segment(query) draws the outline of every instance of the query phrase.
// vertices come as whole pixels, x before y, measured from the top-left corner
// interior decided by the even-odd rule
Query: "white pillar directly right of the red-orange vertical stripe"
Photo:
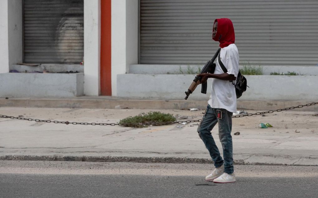
[[[138,0],[112,0],[112,95],[117,96],[117,75],[138,63]]]

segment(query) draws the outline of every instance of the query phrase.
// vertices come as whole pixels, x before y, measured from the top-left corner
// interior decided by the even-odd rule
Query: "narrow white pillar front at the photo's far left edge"
[[[0,1],[0,73],[9,72],[8,0]]]

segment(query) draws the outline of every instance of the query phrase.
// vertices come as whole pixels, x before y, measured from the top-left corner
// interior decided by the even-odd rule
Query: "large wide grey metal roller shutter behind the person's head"
[[[230,18],[240,64],[318,64],[318,1],[140,0],[141,64],[204,64],[218,48],[215,18]]]

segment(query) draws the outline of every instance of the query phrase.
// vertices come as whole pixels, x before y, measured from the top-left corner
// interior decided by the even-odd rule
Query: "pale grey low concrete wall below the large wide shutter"
[[[119,74],[117,76],[118,97],[139,97],[159,99],[183,99],[196,75],[183,74]],[[318,76],[245,75],[246,92],[239,100],[316,100]],[[207,94],[201,93],[201,85],[189,99],[208,100],[211,80],[208,80]]]

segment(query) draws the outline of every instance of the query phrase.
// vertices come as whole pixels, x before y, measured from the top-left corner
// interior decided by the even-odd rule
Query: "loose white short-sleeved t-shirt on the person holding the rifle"
[[[230,44],[225,48],[221,48],[220,58],[227,69],[228,74],[235,77],[239,73],[239,51],[235,44]],[[216,58],[215,74],[224,73]],[[236,93],[235,87],[229,80],[212,79],[211,96],[208,101],[212,108],[226,109],[229,112],[236,112]],[[235,81],[234,81],[235,83]]]

